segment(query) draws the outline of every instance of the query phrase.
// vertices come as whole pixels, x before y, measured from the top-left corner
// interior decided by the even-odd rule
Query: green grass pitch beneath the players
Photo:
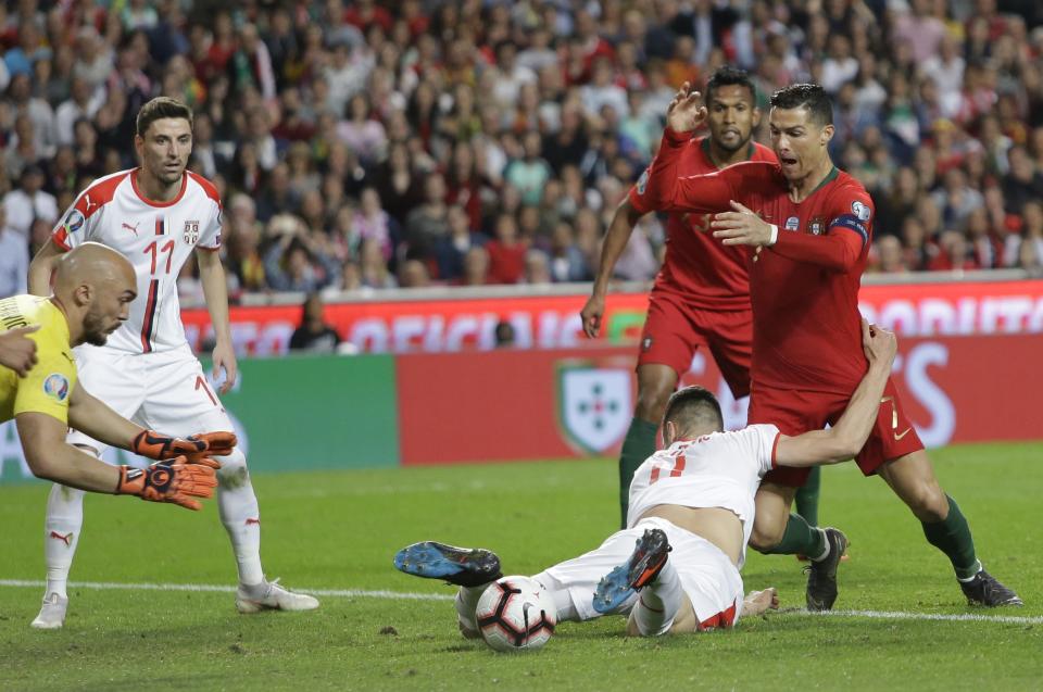
[[[639,640],[620,618],[565,624],[540,652],[501,655],[456,632],[448,600],[324,597],[312,614],[240,616],[227,592],[74,587],[63,630],[28,627],[38,587],[0,586],[0,690],[1040,690],[1043,689],[1043,444],[933,453],[987,568],[1023,608],[969,608],[947,561],[878,479],[827,468],[821,518],[852,540],[843,611],[810,616],[793,558],[751,553],[746,589],[776,586],[783,611],[732,631]],[[391,567],[406,543],[497,550],[533,574],[596,545],[616,524],[615,462],[447,466],[254,478],[269,577],[290,587],[419,592]],[[47,488],[0,488],[0,579],[42,578]],[[217,509],[200,514],[89,496],[78,582],[233,586]],[[1023,620],[929,620],[928,614]]]

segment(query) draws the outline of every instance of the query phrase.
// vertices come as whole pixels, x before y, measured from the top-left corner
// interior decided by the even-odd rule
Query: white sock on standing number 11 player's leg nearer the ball
[[[261,511],[253,493],[247,457],[239,448],[228,456],[217,457],[217,509],[231,539],[239,566],[239,583],[253,586],[264,581],[261,567]]]

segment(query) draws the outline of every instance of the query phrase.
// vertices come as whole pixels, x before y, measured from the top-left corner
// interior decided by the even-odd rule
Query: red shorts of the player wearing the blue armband
[[[771,423],[778,426],[782,435],[791,437],[808,430],[821,430],[827,423],[835,425],[850,399],[843,394],[772,389],[758,385],[750,398],[749,423]],[[905,417],[894,381],[888,378],[877,413],[877,423],[865,446],[855,456],[855,463],[863,474],[871,476],[884,462],[922,449],[923,443],[920,442],[916,429]],[[780,486],[799,488],[807,480],[809,473],[810,468],[779,467],[768,471],[764,479]]]

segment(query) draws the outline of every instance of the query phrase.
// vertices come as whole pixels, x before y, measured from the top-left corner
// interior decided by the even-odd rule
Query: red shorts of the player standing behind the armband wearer
[[[668,365],[677,377],[692,366],[699,347],[706,347],[736,399],[750,393],[753,313],[750,310],[707,310],[683,299],[652,291],[641,332],[638,367]]]

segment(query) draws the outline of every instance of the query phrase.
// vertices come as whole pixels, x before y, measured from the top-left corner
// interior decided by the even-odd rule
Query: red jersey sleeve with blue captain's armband
[[[824,235],[780,232],[771,249],[790,260],[850,272],[869,243],[872,200],[864,189],[844,186],[825,211],[830,221]]]

